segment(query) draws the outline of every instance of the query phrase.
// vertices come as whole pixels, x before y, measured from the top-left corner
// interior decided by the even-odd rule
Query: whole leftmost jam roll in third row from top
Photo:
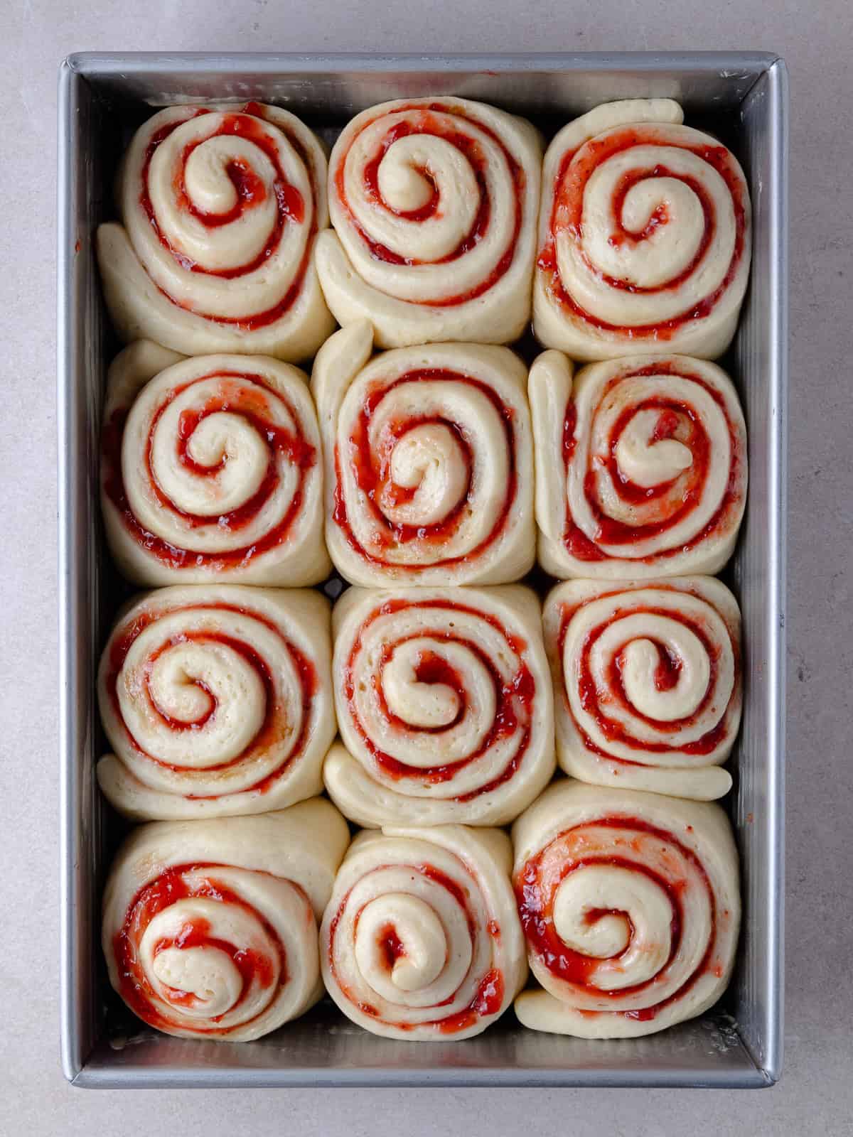
[[[133,600],[101,656],[114,754],[101,789],[134,819],[266,813],[322,789],[334,737],[329,601],[190,586]]]

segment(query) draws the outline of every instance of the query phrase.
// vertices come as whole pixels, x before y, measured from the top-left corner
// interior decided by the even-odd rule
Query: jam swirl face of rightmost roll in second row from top
[[[746,493],[743,416],[726,376],[724,385],[713,379],[670,357],[618,367],[594,398],[581,397],[580,414],[577,392],[570,396],[563,543],[574,561],[660,563],[665,571],[672,557],[702,555],[737,532]]]

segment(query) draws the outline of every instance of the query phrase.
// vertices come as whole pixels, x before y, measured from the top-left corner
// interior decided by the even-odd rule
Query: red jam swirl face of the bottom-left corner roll
[[[288,982],[287,952],[270,921],[239,895],[247,877],[267,874],[176,865],[133,898],[111,946],[118,994],[149,1026],[227,1037],[268,1013]],[[200,971],[206,990],[180,986],[181,957],[187,970],[209,960]]]

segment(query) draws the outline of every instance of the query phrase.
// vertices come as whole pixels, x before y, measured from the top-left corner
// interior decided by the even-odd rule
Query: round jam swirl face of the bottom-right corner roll
[[[702,860],[641,818],[590,818],[560,832],[514,883],[537,977],[581,1014],[648,1022],[719,965]]]

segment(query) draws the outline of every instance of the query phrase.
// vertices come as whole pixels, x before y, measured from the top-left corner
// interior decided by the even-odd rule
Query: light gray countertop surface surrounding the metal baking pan
[[[853,1134],[848,0],[6,0],[0,55],[0,1131]],[[77,50],[764,49],[792,83],[787,1029],[762,1092],[75,1090],[59,1069],[56,73]]]

